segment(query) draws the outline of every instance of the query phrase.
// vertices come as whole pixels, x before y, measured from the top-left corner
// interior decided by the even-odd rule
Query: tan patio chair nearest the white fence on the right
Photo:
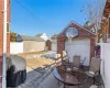
[[[100,74],[100,63],[101,59],[100,58],[91,58],[91,63],[90,63],[90,67],[88,72],[85,72],[86,75],[88,76],[88,78],[92,78],[94,80],[94,85],[95,85],[95,77],[98,76]],[[87,78],[87,79],[88,79]]]

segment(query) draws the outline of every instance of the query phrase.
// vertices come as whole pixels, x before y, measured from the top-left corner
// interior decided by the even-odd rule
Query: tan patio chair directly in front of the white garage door
[[[79,55],[75,55],[73,57],[73,70],[79,70],[79,65],[80,65],[80,56]]]

